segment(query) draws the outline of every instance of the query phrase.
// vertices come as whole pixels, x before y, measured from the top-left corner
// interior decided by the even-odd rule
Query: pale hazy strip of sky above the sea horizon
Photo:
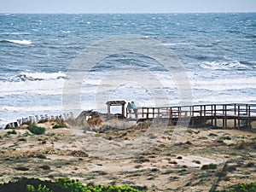
[[[256,0],[0,0],[0,13],[256,12]]]

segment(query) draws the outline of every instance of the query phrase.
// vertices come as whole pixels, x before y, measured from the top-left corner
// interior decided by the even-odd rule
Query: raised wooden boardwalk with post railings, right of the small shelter
[[[177,119],[190,118],[192,127],[252,128],[256,120],[256,104],[210,104],[160,108],[137,108],[137,115],[126,108],[126,120],[168,119],[174,125]]]

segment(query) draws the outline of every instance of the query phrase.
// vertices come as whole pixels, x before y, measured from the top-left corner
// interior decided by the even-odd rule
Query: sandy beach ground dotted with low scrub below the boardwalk
[[[26,126],[16,129],[16,134],[0,131],[0,183],[20,177],[67,177],[84,184],[114,183],[147,191],[209,191],[256,180],[255,127],[252,131],[188,128],[182,140],[173,144],[175,127],[167,126],[160,137],[152,137],[154,144],[141,154],[109,158],[81,141],[129,142],[148,127],[81,128],[78,135],[73,127],[53,129],[53,125],[53,121],[39,124],[46,128],[43,135],[32,134]]]

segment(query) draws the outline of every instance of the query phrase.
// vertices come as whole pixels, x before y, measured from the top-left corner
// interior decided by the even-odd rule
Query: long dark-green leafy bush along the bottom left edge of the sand
[[[96,185],[84,186],[79,180],[59,178],[54,182],[38,178],[21,178],[17,182],[0,184],[0,191],[4,192],[141,192],[130,186]]]

